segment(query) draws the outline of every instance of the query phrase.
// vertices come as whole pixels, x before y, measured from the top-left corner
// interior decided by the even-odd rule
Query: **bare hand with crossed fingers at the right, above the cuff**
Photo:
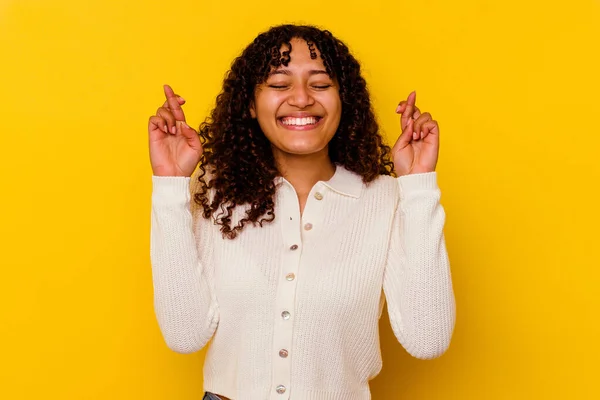
[[[440,150],[440,129],[431,114],[415,106],[416,92],[408,95],[396,109],[402,114],[402,134],[392,148],[394,170],[398,176],[435,171]]]

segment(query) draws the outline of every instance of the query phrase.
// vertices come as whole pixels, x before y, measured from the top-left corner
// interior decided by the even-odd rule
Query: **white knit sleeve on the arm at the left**
[[[167,346],[192,353],[208,343],[219,322],[208,261],[210,221],[193,221],[190,178],[153,176],[152,185],[154,310]]]

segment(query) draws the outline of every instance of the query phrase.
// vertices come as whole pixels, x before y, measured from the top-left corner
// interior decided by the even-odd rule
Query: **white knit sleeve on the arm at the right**
[[[445,213],[435,172],[397,181],[383,288],[396,338],[412,356],[430,359],[448,349],[456,320]]]

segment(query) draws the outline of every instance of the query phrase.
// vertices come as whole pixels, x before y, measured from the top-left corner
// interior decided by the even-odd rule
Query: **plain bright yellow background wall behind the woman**
[[[456,330],[416,360],[385,314],[374,399],[597,395],[598,0],[0,4],[0,398],[201,398],[152,308],[147,119],[169,83],[198,125],[283,22],[350,46],[390,142],[414,89],[441,127]]]

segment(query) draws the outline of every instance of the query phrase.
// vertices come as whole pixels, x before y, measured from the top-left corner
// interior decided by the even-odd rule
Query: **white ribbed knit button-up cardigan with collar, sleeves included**
[[[233,400],[370,399],[385,300],[410,354],[448,348],[456,311],[435,172],[365,185],[338,166],[302,215],[293,186],[277,178],[275,220],[234,240],[200,215],[195,180],[152,182],[158,324],[179,353],[212,339],[205,390]],[[243,214],[238,207],[232,222]]]

